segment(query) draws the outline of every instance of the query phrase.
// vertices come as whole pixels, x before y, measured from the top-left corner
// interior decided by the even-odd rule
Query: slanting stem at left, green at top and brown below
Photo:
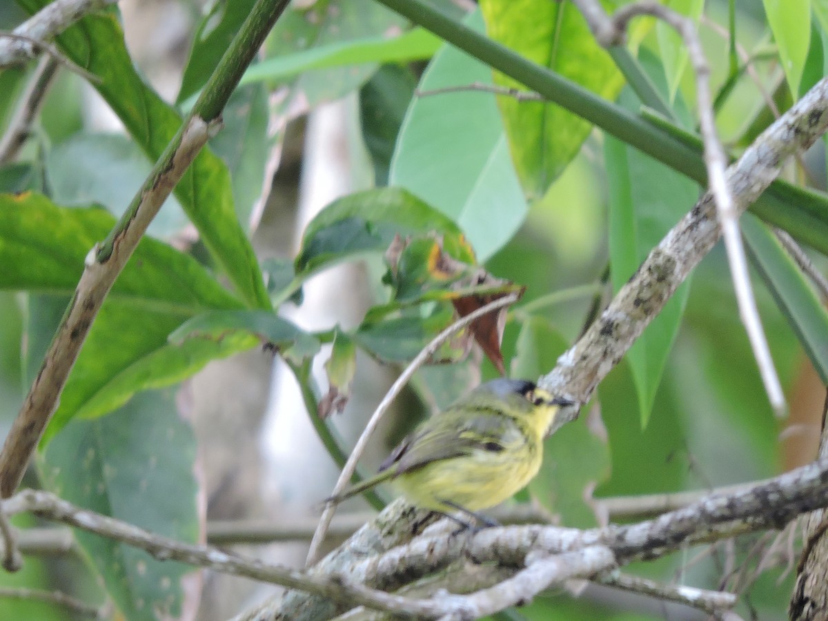
[[[20,484],[31,453],[55,412],[66,378],[115,278],[201,147],[219,130],[221,110],[287,4],[288,0],[258,0],[190,115],[122,219],[108,237],[89,252],[75,296],[0,452],[0,497],[8,498]]]

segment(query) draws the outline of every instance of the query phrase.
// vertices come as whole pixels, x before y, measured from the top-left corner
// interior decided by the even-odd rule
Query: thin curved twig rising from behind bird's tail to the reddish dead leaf
[[[426,347],[424,347],[421,352],[416,355],[415,359],[413,359],[411,363],[409,363],[408,366],[402,371],[402,373],[400,373],[400,377],[398,377],[397,381],[394,382],[391,388],[388,389],[385,397],[383,397],[383,401],[379,403],[377,409],[371,415],[368,424],[359,436],[359,440],[357,440],[356,445],[354,445],[354,450],[351,451],[348,461],[345,462],[342,472],[339,474],[339,479],[334,486],[334,490],[330,494],[331,496],[336,496],[348,485],[351,477],[354,475],[354,470],[356,470],[357,461],[359,461],[363,451],[368,446],[368,440],[370,440],[373,432],[376,430],[383,414],[388,410],[388,407],[391,406],[393,400],[397,398],[397,395],[400,391],[402,391],[402,388],[405,388],[408,380],[412,378],[412,375],[416,372],[416,370],[420,368],[426,360],[431,358],[436,350],[440,348],[440,345],[450,339],[451,336],[455,335],[458,330],[461,330],[475,319],[478,319],[483,315],[487,315],[493,310],[498,310],[499,308],[514,304],[519,298],[520,296],[516,293],[511,293],[508,296],[503,296],[493,302],[489,302],[486,306],[481,306],[479,309],[474,310],[474,312],[469,313],[469,315],[460,317],[459,320],[456,320],[452,325],[440,332],[439,335],[436,335],[436,337],[431,340],[431,343],[427,344]],[[328,527],[330,526],[330,521],[334,517],[335,510],[335,503],[325,503],[325,509],[320,517],[319,527],[316,528],[314,537],[310,541],[310,549],[308,550],[306,566],[311,566],[315,563],[316,557],[319,553],[319,548],[325,540],[325,532],[327,532]]]

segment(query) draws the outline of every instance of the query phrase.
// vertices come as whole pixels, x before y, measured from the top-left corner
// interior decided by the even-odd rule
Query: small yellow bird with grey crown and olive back
[[[379,467],[379,474],[328,498],[341,502],[388,481],[417,507],[475,511],[522,489],[541,468],[543,439],[561,407],[574,405],[526,380],[484,383],[421,423]]]

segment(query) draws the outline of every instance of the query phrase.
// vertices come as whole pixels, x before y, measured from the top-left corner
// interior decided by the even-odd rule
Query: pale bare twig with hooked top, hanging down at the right
[[[739,231],[739,210],[734,204],[733,194],[727,181],[725,169],[727,156],[721,146],[715,127],[713,114],[713,97],[710,94],[710,65],[701,47],[696,24],[681,13],[664,7],[657,2],[636,2],[619,8],[612,17],[604,13],[596,0],[574,0],[590,23],[596,39],[603,46],[617,45],[623,39],[628,23],[633,17],[650,15],[666,22],[681,36],[687,48],[694,70],[696,70],[696,99],[700,120],[701,137],[704,140],[704,160],[707,168],[708,184],[716,205],[724,248],[727,251],[730,273],[733,279],[736,300],[739,303],[739,315],[748,333],[753,348],[753,356],[758,364],[759,373],[768,393],[768,400],[778,416],[786,411],[785,395],[782,383],[773,366],[768,339],[766,339],[753,287],[750,284],[748,260],[745,257],[742,235]]]

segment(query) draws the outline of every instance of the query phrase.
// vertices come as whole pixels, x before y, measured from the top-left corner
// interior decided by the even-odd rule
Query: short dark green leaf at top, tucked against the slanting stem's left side
[[[213,3],[195,31],[176,103],[189,99],[206,84],[254,4],[256,0],[219,0]]]

